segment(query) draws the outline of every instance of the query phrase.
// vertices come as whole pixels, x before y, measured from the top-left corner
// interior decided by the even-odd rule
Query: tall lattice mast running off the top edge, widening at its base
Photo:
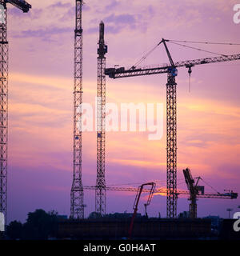
[[[82,187],[82,0],[76,0],[74,30],[74,161],[70,218],[84,218]]]

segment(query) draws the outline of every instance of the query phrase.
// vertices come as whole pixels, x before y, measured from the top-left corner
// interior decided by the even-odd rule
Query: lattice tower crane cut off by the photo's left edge
[[[11,5],[27,13],[31,6],[26,1],[0,0],[0,213],[6,218],[7,208],[7,134],[8,134],[8,41],[7,7]]]

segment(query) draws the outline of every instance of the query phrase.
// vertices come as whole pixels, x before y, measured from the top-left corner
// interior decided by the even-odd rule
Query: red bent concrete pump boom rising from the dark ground
[[[149,197],[147,199],[146,204],[144,205],[146,207],[146,206],[150,205],[151,199],[153,198],[153,194],[154,194],[156,184],[154,182],[148,182],[148,183],[144,183],[144,184],[142,184],[141,186],[138,187],[138,191],[137,191],[136,198],[135,198],[135,201],[134,201],[134,214],[131,218],[130,228],[129,228],[129,232],[128,232],[129,239],[132,236],[132,231],[133,231],[133,227],[134,227],[134,218],[136,217],[136,214],[137,214],[137,211],[138,211],[138,202],[140,200],[140,197],[141,197],[142,190],[143,190],[144,186],[151,186]]]

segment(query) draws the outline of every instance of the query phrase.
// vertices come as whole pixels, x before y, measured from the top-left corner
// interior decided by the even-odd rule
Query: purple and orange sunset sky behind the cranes
[[[98,24],[106,26],[107,66],[132,66],[162,38],[240,43],[234,4],[225,0],[86,1],[83,7],[84,102],[94,102],[97,82]],[[74,1],[30,1],[22,14],[9,6],[9,197],[8,220],[24,221],[36,208],[70,214],[73,132]],[[222,54],[239,46],[194,45]],[[169,44],[174,61],[212,54]],[[162,46],[143,65],[168,62]],[[240,191],[240,62],[196,66],[188,91],[186,69],[178,70],[178,184],[189,166],[220,192]],[[106,101],[160,102],[166,105],[166,74],[106,79]],[[165,120],[165,119],[164,119]],[[166,124],[164,123],[164,126]],[[83,134],[82,179],[96,180],[96,134]],[[106,183],[160,180],[166,185],[166,133],[149,141],[144,133],[106,135]],[[134,185],[138,186],[138,185]],[[210,188],[206,190],[214,192]],[[132,211],[135,194],[107,193],[107,212]],[[85,192],[86,216],[94,210],[94,191]],[[118,202],[118,203],[116,203]],[[143,213],[143,202],[139,208]],[[178,213],[188,210],[178,200]],[[199,199],[198,216],[226,217],[240,200]],[[166,197],[155,196],[150,216],[166,216]]]

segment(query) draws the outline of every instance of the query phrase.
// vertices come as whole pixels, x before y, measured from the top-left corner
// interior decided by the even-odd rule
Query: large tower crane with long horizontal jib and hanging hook
[[[240,54],[221,55],[214,58],[198,58],[182,62],[174,62],[170,51],[166,46],[166,40],[158,43],[163,44],[166,54],[169,58],[170,65],[137,67],[132,66],[130,69],[124,67],[107,68],[105,74],[110,78],[129,78],[150,74],[167,74],[166,83],[166,215],[167,218],[177,216],[177,83],[175,78],[178,75],[178,67],[186,67],[191,74],[193,66],[216,63],[230,62],[240,59]]]

